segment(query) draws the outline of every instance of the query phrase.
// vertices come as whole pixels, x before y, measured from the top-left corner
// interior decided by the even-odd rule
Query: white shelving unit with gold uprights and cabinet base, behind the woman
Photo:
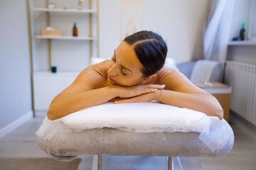
[[[55,3],[59,6],[62,6],[61,4],[67,5],[62,0],[57,0]],[[47,111],[53,98],[60,94],[63,89],[70,86],[81,72],[72,72],[70,71],[72,69],[65,67],[69,67],[69,65],[74,66],[75,63],[79,62],[80,68],[84,69],[86,64],[83,64],[79,59],[84,59],[87,63],[90,61],[94,51],[92,44],[96,45],[97,57],[99,55],[99,0],[88,0],[82,9],[75,8],[75,5],[78,5],[77,1],[70,2],[69,6],[65,9],[60,7],[50,9],[48,5],[49,0],[37,2],[36,0],[28,0],[31,88],[34,113],[35,110]],[[70,29],[70,23],[74,23],[74,21],[78,23],[79,36],[73,36],[70,31],[72,30]],[[64,35],[46,36],[40,34],[42,28],[50,26],[62,28]],[[62,42],[62,40],[65,42]],[[67,40],[70,41],[67,42]],[[95,41],[97,41],[97,44]],[[75,57],[68,55],[73,53],[73,50],[76,50]],[[65,55],[64,52],[68,54]],[[52,57],[55,58],[55,64],[52,64]],[[33,62],[34,59],[36,62]],[[34,63],[36,69],[34,68]],[[55,73],[51,72],[53,65],[60,68],[57,63],[63,64],[65,67],[62,67],[61,70],[57,69]],[[40,64],[48,64],[48,71],[42,70]]]

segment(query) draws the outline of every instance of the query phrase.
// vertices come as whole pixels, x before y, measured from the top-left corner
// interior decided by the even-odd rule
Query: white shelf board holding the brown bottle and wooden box
[[[52,39],[52,40],[97,40],[95,36],[45,36],[45,35],[36,35],[36,39]]]

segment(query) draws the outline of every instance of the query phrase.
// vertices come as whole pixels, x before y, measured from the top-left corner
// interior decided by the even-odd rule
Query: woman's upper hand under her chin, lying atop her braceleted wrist
[[[142,94],[148,94],[155,92],[157,90],[164,89],[165,85],[159,84],[146,84],[146,85],[136,85],[136,86],[118,86],[115,85],[113,88],[117,90],[117,96],[119,98],[132,98],[135,96],[140,96]]]

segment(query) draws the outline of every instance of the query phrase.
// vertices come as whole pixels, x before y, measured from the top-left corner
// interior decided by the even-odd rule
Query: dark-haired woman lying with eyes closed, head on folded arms
[[[160,35],[140,31],[114,50],[111,60],[84,69],[73,84],[53,98],[48,119],[55,120],[107,101],[156,100],[223,118],[217,99],[195,86],[181,72],[164,67],[167,46]],[[165,85],[165,86],[164,86]]]

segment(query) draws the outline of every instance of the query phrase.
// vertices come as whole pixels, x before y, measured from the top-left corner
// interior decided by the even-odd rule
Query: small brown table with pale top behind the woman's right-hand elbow
[[[224,111],[224,119],[229,122],[230,113],[230,98],[232,93],[232,87],[227,84],[222,84],[220,82],[197,82],[193,83],[200,87],[208,94],[213,95],[220,102],[221,107]]]

